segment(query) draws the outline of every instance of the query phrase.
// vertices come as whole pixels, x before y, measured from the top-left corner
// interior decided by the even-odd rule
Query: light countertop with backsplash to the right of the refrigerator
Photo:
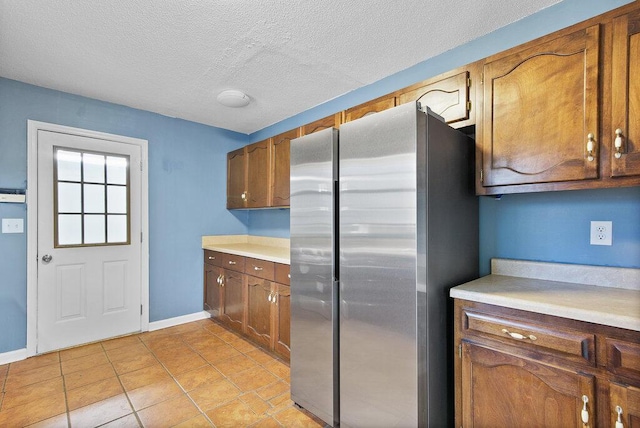
[[[494,259],[451,297],[640,331],[640,269]]]

